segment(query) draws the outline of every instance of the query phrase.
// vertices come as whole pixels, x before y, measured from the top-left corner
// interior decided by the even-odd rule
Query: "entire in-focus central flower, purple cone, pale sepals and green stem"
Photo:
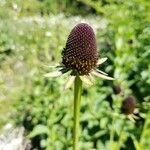
[[[79,23],[68,36],[66,46],[62,51],[62,62],[54,67],[57,70],[44,75],[45,77],[59,77],[68,72],[69,78],[64,89],[70,88],[74,83],[73,150],[79,150],[82,82],[93,85],[93,76],[114,80],[107,73],[98,69],[99,65],[106,60],[107,58],[98,59],[96,37],[92,27],[86,23]]]

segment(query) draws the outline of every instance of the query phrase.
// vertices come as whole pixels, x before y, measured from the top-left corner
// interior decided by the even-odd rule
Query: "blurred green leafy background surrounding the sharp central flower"
[[[63,90],[67,76],[43,74],[44,65],[61,62],[70,30],[83,21],[95,30],[99,56],[108,57],[100,69],[116,80],[83,88],[81,150],[149,150],[148,0],[0,0],[0,133],[12,123],[25,128],[32,149],[71,149],[73,88]],[[135,122],[120,111],[130,95]]]

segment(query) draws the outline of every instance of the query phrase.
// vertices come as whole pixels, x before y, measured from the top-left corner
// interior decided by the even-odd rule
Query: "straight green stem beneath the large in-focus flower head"
[[[79,117],[81,101],[82,81],[76,76],[74,83],[74,133],[73,133],[73,150],[78,150],[79,139]]]

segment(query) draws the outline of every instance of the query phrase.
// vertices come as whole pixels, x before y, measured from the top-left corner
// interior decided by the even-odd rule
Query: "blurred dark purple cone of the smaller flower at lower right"
[[[126,115],[133,114],[135,107],[135,98],[133,96],[129,96],[122,102],[121,111]]]

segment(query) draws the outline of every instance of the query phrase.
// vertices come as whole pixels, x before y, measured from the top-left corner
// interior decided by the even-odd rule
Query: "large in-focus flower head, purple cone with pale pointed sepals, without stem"
[[[72,85],[76,76],[89,85],[93,84],[93,75],[113,80],[105,72],[97,69],[106,60],[107,58],[98,59],[96,38],[92,27],[86,23],[79,23],[72,29],[67,39],[62,51],[61,64],[55,66],[56,71],[45,74],[45,77],[57,77],[70,72],[65,88]]]

